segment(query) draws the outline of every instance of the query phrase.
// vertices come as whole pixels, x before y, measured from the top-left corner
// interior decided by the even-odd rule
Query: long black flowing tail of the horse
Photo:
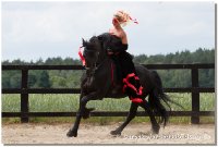
[[[166,106],[169,108],[169,111],[171,111],[171,107],[169,102],[173,102],[168,95],[164,93],[162,89],[162,82],[160,79],[160,76],[156,71],[153,71],[152,74],[155,77],[155,88],[152,90],[152,93],[148,96],[148,103],[152,108],[152,110],[159,115],[159,123],[164,123],[164,126],[166,126],[169,114],[166,109],[166,107],[162,105],[161,101],[166,103]],[[174,103],[174,102],[173,102]]]

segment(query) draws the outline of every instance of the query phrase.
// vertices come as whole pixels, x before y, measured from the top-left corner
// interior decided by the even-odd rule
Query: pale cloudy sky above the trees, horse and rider
[[[138,21],[123,27],[132,54],[215,48],[214,2],[2,2],[2,60],[78,59],[82,38],[106,33],[124,10]]]

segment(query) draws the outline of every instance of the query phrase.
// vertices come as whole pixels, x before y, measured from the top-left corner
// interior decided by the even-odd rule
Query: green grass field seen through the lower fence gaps
[[[80,95],[29,95],[31,112],[65,112],[77,111]],[[171,105],[173,111],[191,111],[191,94],[169,94],[172,100],[184,107],[185,110]],[[2,112],[20,112],[20,95],[2,95]],[[96,111],[129,111],[129,98],[94,100],[87,103],[88,108],[95,108]],[[144,111],[138,108],[140,111]],[[215,94],[201,94],[201,111],[215,110]],[[84,123],[108,124],[110,122],[122,122],[125,117],[93,117],[83,120]],[[19,118],[4,118],[3,123],[20,122]],[[31,122],[74,122],[71,118],[31,118]],[[133,122],[149,122],[148,117],[137,117]],[[190,123],[190,117],[174,117],[170,119],[171,123]],[[213,117],[202,117],[202,123],[214,123]]]

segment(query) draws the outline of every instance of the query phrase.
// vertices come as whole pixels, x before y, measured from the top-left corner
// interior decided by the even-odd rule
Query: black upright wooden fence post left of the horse
[[[28,70],[23,69],[22,70],[22,85],[21,85],[21,122],[27,123],[28,122],[28,115],[26,114],[28,112]]]

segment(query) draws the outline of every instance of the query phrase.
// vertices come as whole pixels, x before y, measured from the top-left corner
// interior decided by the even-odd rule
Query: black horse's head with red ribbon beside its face
[[[97,60],[101,50],[101,45],[98,37],[94,36],[89,41],[83,39],[83,57],[85,58],[85,68],[94,69],[96,68]]]

